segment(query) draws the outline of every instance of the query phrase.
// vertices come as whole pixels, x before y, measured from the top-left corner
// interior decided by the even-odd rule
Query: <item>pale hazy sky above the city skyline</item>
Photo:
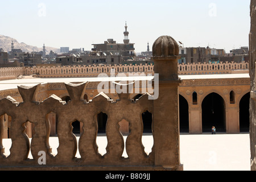
[[[0,35],[31,46],[92,49],[114,39],[123,43],[127,21],[135,51],[150,50],[162,35],[184,47],[248,46],[250,0],[2,1]]]

